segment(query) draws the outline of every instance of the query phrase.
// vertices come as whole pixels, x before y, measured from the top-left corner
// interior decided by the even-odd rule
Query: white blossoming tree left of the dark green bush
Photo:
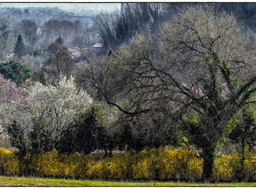
[[[87,92],[75,86],[73,77],[60,77],[56,86],[35,83],[28,97],[26,106],[14,101],[16,111],[7,126],[12,145],[23,153],[53,149],[67,125],[92,103]],[[21,148],[21,143],[26,145]]]

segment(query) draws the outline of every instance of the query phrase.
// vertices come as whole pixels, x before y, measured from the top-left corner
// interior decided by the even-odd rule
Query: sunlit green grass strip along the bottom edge
[[[218,183],[200,184],[186,182],[126,182],[126,181],[92,181],[92,180],[72,180],[53,178],[23,178],[0,176],[0,186],[256,186],[256,182],[241,183]]]

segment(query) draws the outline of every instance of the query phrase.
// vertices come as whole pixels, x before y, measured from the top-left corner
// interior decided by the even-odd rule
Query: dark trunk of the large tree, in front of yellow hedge
[[[203,180],[212,182],[212,170],[215,159],[215,148],[203,148]]]

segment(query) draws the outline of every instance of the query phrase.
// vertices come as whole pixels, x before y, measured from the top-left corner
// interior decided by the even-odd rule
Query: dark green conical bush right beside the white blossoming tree
[[[82,152],[106,148],[106,131],[103,126],[105,116],[98,104],[94,103],[84,113],[74,118],[71,125],[63,131],[57,150],[60,152]]]

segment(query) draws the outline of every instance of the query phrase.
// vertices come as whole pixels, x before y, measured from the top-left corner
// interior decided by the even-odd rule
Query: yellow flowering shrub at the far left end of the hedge
[[[19,172],[19,160],[13,151],[0,148],[0,172],[3,175],[15,175]]]

